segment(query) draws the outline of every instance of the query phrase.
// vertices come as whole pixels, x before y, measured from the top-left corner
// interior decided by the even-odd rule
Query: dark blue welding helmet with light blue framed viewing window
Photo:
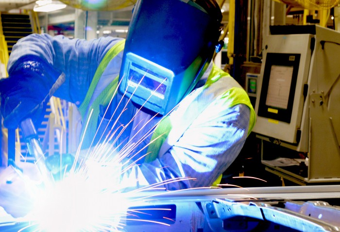
[[[125,42],[119,92],[166,115],[192,91],[221,45],[215,0],[138,0]]]

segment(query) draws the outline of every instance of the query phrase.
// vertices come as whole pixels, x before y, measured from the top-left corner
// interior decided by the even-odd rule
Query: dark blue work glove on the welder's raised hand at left
[[[9,70],[9,77],[0,80],[3,124],[17,128],[25,118],[40,125],[52,94],[65,81],[65,75],[54,70],[37,56],[21,57]]]

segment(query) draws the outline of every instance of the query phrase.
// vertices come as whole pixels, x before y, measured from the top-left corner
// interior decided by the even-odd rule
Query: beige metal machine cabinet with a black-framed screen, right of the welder
[[[265,44],[253,130],[262,163],[301,185],[340,182],[340,33],[318,25],[272,26]],[[269,99],[272,80],[274,97],[286,106]],[[304,162],[268,164],[278,157]]]

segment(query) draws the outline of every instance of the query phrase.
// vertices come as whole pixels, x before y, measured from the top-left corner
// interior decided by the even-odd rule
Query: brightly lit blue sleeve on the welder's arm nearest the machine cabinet
[[[139,188],[157,184],[167,190],[209,187],[238,156],[247,138],[250,110],[239,104],[225,109],[223,100],[210,105],[176,144],[152,163],[133,166],[122,184]],[[195,180],[169,182],[174,178]]]

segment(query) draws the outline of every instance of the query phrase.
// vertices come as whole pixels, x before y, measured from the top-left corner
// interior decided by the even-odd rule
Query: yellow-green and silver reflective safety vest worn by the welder
[[[89,105],[102,73],[109,62],[124,49],[124,42],[125,40],[119,41],[104,56],[96,70],[86,97],[79,108],[83,118],[83,128],[85,128],[87,124],[86,137],[93,138],[95,135],[100,105],[107,106],[112,96],[117,94],[118,76],[102,91],[92,104]],[[238,104],[244,104],[249,107],[249,135],[255,125],[255,111],[247,93],[228,73],[213,65],[204,86],[193,90],[187,95],[169,116],[162,118],[154,129],[151,138],[153,142],[148,146],[147,153],[149,154],[146,156],[144,162],[151,162],[165,154],[187,131],[195,118],[197,118],[211,102],[218,98],[225,100],[226,108],[231,108]],[[85,118],[86,114],[87,117]],[[89,117],[90,120],[88,120]],[[221,179],[221,177],[219,179]]]

